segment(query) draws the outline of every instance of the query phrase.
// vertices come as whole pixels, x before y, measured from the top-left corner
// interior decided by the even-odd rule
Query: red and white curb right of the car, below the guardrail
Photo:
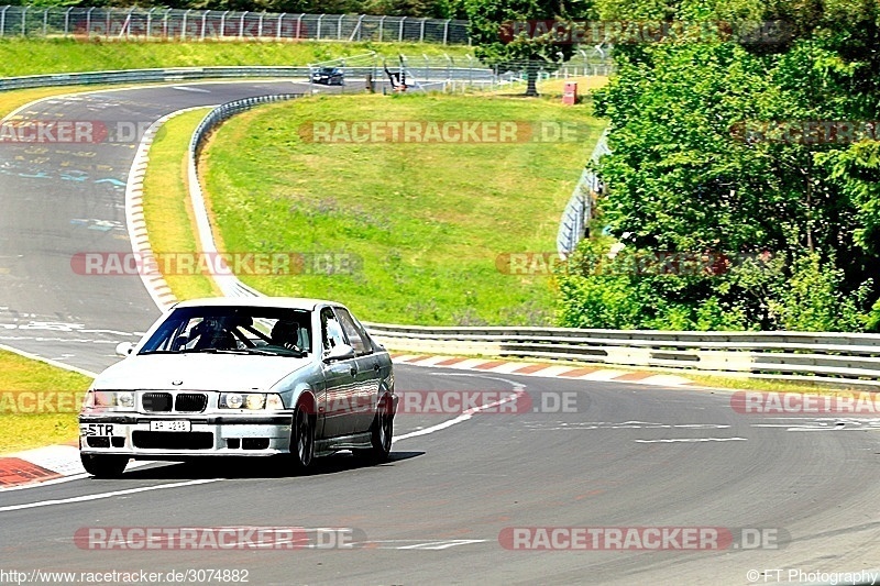
[[[392,354],[396,364],[455,368],[481,373],[526,375],[543,378],[568,378],[570,380],[595,380],[602,383],[636,383],[663,387],[692,385],[683,376],[650,372],[615,371],[598,366],[570,366],[559,364],[518,362],[505,360],[463,358],[461,356],[435,356],[426,354]]]

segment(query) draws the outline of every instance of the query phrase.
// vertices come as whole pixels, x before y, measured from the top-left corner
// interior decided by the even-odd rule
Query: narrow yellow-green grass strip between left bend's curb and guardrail
[[[200,248],[187,189],[187,152],[193,131],[209,110],[198,109],[170,119],[150,147],[144,219],[150,226],[150,246],[158,255],[195,253]],[[165,275],[165,281],[178,299],[220,295],[213,279],[204,275]]]

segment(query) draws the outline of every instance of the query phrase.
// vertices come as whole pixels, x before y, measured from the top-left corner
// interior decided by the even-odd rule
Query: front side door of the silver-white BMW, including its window
[[[336,438],[354,432],[354,410],[356,396],[356,357],[328,361],[327,354],[340,344],[346,344],[343,329],[332,308],[321,309],[321,368],[324,378],[324,400],[322,407],[323,435]]]

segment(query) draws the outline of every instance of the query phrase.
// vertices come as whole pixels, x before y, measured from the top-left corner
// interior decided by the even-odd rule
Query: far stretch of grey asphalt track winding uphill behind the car
[[[124,194],[143,130],[198,106],[308,91],[307,84],[217,82],[46,99],[34,121],[90,123],[90,142],[0,142],[0,344],[100,371],[113,346],[160,314],[134,276],[74,273],[78,253],[131,252]]]

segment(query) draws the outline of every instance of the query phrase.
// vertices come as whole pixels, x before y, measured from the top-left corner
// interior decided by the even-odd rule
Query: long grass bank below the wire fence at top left
[[[307,65],[375,51],[397,58],[442,56],[453,58],[473,52],[464,45],[419,43],[332,42],[125,42],[75,38],[0,40],[0,76],[73,71],[202,67],[211,65]],[[396,63],[396,62],[395,62]]]

